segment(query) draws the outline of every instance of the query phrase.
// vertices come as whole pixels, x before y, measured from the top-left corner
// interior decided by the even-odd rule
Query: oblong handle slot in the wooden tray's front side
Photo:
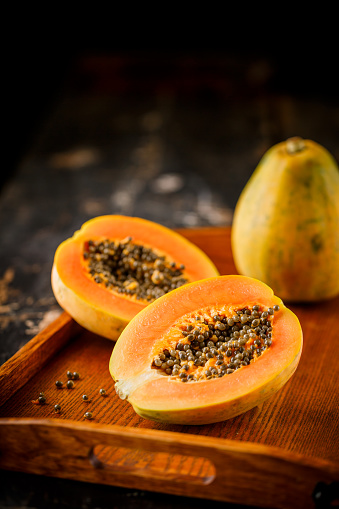
[[[206,486],[216,477],[215,466],[209,459],[184,454],[151,452],[100,444],[91,448],[89,460],[95,468],[170,482]]]

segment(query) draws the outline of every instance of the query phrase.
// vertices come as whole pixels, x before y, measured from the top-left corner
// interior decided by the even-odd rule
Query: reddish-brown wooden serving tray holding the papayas
[[[236,273],[229,228],[181,233],[221,273]],[[292,379],[260,408],[203,426],[137,416],[114,391],[114,343],[63,313],[0,370],[0,468],[260,507],[320,507],[339,481],[339,298],[290,307],[304,331]],[[80,373],[73,389],[67,370]],[[44,405],[32,403],[40,392]]]

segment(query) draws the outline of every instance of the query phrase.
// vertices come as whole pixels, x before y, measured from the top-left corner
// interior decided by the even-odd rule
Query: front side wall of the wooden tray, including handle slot
[[[337,464],[261,444],[52,419],[0,419],[1,468],[272,509],[319,506],[315,486],[339,478]]]

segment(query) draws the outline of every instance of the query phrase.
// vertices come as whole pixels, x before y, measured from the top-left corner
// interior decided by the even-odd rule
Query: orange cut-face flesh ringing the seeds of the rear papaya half
[[[83,260],[83,246],[89,239],[123,240],[128,236],[132,237],[134,243],[147,245],[185,265],[185,276],[190,281],[219,275],[210,258],[181,234],[145,219],[101,216],[87,221],[73,237],[57,248],[52,269],[52,287],[62,307],[66,294],[68,298],[70,294],[76,294],[72,308],[77,305],[87,310],[94,307],[108,317],[116,317],[127,323],[147,305],[93,282]],[[72,314],[73,310],[69,312]]]

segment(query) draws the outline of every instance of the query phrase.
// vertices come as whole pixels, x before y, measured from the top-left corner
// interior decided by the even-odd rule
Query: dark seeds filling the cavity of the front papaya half
[[[182,382],[218,378],[247,366],[272,344],[272,318],[276,305],[243,308],[233,316],[197,316],[182,326],[173,348],[163,349],[152,367]]]

